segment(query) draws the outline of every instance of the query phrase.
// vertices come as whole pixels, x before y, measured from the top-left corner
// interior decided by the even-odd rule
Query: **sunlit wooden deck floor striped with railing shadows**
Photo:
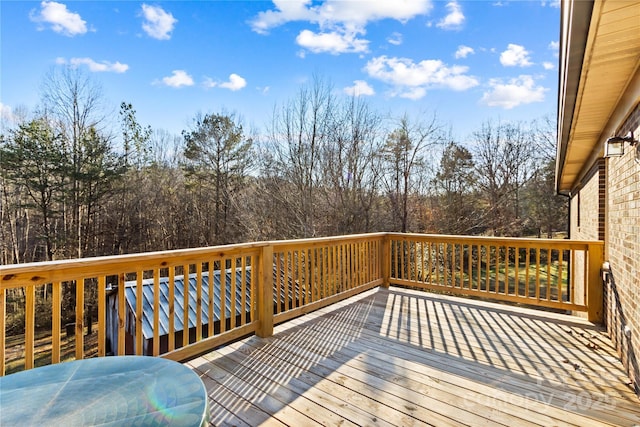
[[[576,317],[376,288],[188,363],[212,425],[640,425]]]

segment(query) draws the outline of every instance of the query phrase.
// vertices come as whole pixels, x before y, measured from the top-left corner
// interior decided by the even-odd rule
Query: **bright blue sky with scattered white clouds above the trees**
[[[0,112],[34,109],[79,67],[143,125],[199,112],[264,128],[314,74],[384,115],[435,113],[464,140],[487,120],[555,115],[557,1],[2,1]]]

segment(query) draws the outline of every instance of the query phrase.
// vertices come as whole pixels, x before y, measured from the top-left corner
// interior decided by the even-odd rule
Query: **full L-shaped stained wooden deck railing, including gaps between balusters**
[[[602,242],[374,233],[0,266],[0,375],[109,354],[186,360],[390,283],[599,321],[602,251]],[[7,333],[9,324],[21,326]]]

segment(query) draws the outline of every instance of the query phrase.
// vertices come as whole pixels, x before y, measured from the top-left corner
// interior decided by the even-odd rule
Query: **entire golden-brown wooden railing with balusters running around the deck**
[[[190,357],[198,352],[206,351],[210,346],[223,345],[230,340],[250,333],[269,336],[272,334],[274,324],[332,304],[372,287],[389,286],[390,283],[492,299],[498,297],[497,299],[505,301],[546,305],[566,310],[587,311],[589,320],[599,321],[602,318],[602,283],[599,280],[599,275],[603,250],[604,242],[598,240],[378,232],[0,265],[0,326],[2,326],[0,328],[0,350],[4,354],[5,297],[9,289],[24,288],[25,290],[25,367],[31,368],[34,366],[36,286],[51,284],[52,319],[55,319],[52,322],[52,336],[59,337],[61,333],[61,290],[67,286],[65,283],[75,283],[73,286],[76,286],[74,292],[77,298],[75,303],[76,358],[83,357],[84,289],[85,287],[92,291],[97,289],[97,303],[100,307],[98,312],[98,355],[103,356],[105,355],[104,343],[106,342],[106,288],[112,276],[117,276],[114,283],[118,285],[135,278],[138,286],[136,291],[139,298],[137,300],[142,301],[141,285],[149,275],[153,275],[154,295],[158,295],[161,276],[169,274],[168,279],[173,283],[175,275],[179,275],[181,272],[182,274],[192,272],[196,275],[198,295],[189,297],[188,293],[185,293],[184,306],[192,301],[196,312],[199,313],[203,307],[201,299],[204,297],[202,293],[203,275],[214,269],[226,270],[227,265],[230,265],[231,268],[241,266],[243,270],[251,269],[254,272],[251,274],[251,283],[243,284],[242,291],[238,294],[238,298],[241,298],[241,305],[245,304],[249,297],[253,301],[251,304],[255,303],[251,309],[250,319],[245,319],[243,312],[242,316],[238,317],[238,324],[232,320],[237,315],[233,309],[236,307],[236,303],[232,299],[227,309],[234,310],[233,314],[230,317],[224,317],[225,320],[221,322],[219,332],[214,331],[213,324],[210,322],[208,335],[202,337],[202,334],[198,332],[202,326],[200,320],[196,328],[196,332],[200,335],[196,337],[196,341],[190,343],[188,342],[189,338],[185,338],[183,335],[185,343],[182,347],[177,348],[170,339],[168,353],[164,353],[163,357],[175,359]],[[570,258],[565,256],[563,259],[563,254],[567,251],[569,252],[567,256]],[[493,255],[490,255],[491,253]],[[584,258],[584,262],[581,264],[582,270],[575,269],[576,253],[583,254],[579,255]],[[482,257],[480,254],[483,254]],[[544,257],[543,262],[541,262],[541,254]],[[432,265],[432,257],[434,262],[439,263],[437,267],[435,267],[436,264]],[[552,259],[553,262],[558,263],[553,283],[550,282],[551,263],[549,262]],[[484,262],[486,262],[486,266],[481,266],[481,263]],[[525,267],[521,266],[522,262],[525,263]],[[562,264],[563,262],[564,264]],[[530,265],[533,266],[534,272],[527,272]],[[542,270],[543,266],[544,271]],[[569,266],[571,266],[572,272],[575,270],[579,275],[582,275],[581,280],[584,280],[585,286],[584,303],[573,300],[574,294],[577,294],[578,291],[577,289],[574,291],[574,282],[567,281],[566,284],[563,282],[566,279],[566,277],[563,279],[563,274],[568,274],[566,271]],[[255,270],[253,270],[254,268]],[[503,268],[504,271],[498,272],[500,268]],[[513,272],[514,268],[516,270],[515,277],[512,277],[513,274],[510,274],[509,271]],[[481,279],[480,272],[483,269],[483,278]],[[491,288],[488,279],[489,271],[496,271],[496,277],[493,279],[494,284]],[[498,289],[498,274],[502,278],[500,289]],[[535,283],[537,286],[536,289],[540,289],[544,274],[547,276],[544,279],[547,289],[550,286],[549,283],[557,286],[556,290],[560,293],[563,290],[569,292],[570,289],[571,299],[561,300],[556,295],[552,301],[547,293],[546,301],[537,298],[536,304],[536,299],[525,298],[529,291],[517,290],[514,295],[509,290],[510,286],[519,284],[519,280],[524,279],[526,283],[530,283],[530,278],[533,281],[531,283]],[[485,279],[485,277],[487,278]],[[224,289],[227,289],[226,286],[229,289],[235,286],[234,278],[235,276],[232,276],[232,283],[224,284]],[[575,277],[572,280],[575,281]],[[224,278],[222,278],[222,282],[224,283]],[[171,286],[170,289],[173,289],[173,285]],[[212,286],[211,281],[208,286]],[[212,289],[209,290],[209,298],[213,298]],[[537,293],[536,290],[536,295]],[[124,351],[124,334],[128,332],[125,331],[124,313],[126,310],[122,294],[119,294],[120,296],[117,298],[117,329],[119,331],[117,349],[119,353]],[[172,295],[173,293],[170,293],[168,297],[170,300],[174,298]],[[135,307],[135,327],[141,329],[140,314],[143,306],[139,301]],[[208,301],[209,307],[212,306],[212,302],[213,300]],[[154,299],[153,304],[154,312],[158,313],[160,311],[158,299]],[[170,302],[170,304],[169,313],[172,313],[174,303]],[[221,300],[221,311],[224,311],[224,304],[224,301]],[[212,309],[210,308],[210,310]],[[211,313],[209,318],[212,318]],[[231,321],[229,327],[224,326],[226,321]],[[158,324],[157,315],[154,315],[153,322],[154,325]],[[184,323],[187,324],[186,320]],[[154,326],[154,331],[156,330],[157,328]],[[169,331],[169,335],[172,336],[176,329],[170,326]],[[138,352],[142,343],[141,335],[138,336],[136,333],[135,339],[135,351]],[[153,354],[155,355],[159,354],[158,342],[159,335],[154,332]],[[60,340],[56,338],[52,345],[52,363],[58,363],[60,361]],[[5,371],[4,362],[4,358],[0,358],[0,376]]]

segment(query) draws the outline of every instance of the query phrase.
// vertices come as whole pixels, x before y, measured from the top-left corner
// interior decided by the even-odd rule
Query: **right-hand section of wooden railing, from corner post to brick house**
[[[390,235],[390,281],[602,318],[603,243]]]

